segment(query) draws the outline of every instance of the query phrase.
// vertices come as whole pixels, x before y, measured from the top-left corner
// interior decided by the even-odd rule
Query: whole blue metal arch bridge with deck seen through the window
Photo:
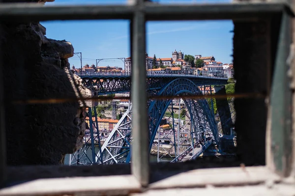
[[[130,92],[130,74],[122,73],[78,73],[82,82],[91,88],[98,95],[108,95],[116,93]],[[205,98],[186,98],[184,108],[186,111],[183,124],[180,125],[180,107],[178,113],[174,109],[170,96],[199,95],[203,96],[206,89],[211,89],[211,85],[225,85],[227,78],[209,77],[186,74],[148,74],[147,93],[148,96],[163,96],[165,99],[149,99],[148,124],[149,124],[149,151],[157,151],[157,161],[179,162],[195,159],[212,143],[219,143],[219,135],[215,123],[213,111],[210,110]],[[210,91],[211,92],[211,91]],[[180,100],[180,99],[179,99]],[[211,101],[213,108],[213,101]],[[145,104],[145,103],[143,103]],[[100,137],[96,121],[96,110],[94,109],[95,121],[92,122],[91,108],[89,108],[90,137],[85,138],[85,146],[70,155],[69,165],[84,164],[81,161],[88,160],[90,164],[118,164],[129,163],[131,157],[131,120],[132,102],[122,115],[121,119],[114,127],[109,137],[100,147]],[[178,114],[178,119],[175,115]],[[167,117],[168,115],[168,117]],[[177,116],[177,115],[176,115]],[[172,127],[167,131],[160,131],[159,126],[163,118],[172,119]],[[177,127],[175,126],[178,120]],[[184,128],[185,127],[185,128]],[[96,132],[96,133],[94,133]],[[169,144],[155,144],[156,135],[158,138],[167,138]],[[161,136],[160,136],[161,135]],[[86,137],[86,136],[85,136]],[[209,138],[207,138],[209,137]],[[87,145],[90,140],[90,145]],[[98,149],[94,143],[97,142]],[[87,153],[91,149],[91,153]],[[86,163],[87,161],[85,161]]]

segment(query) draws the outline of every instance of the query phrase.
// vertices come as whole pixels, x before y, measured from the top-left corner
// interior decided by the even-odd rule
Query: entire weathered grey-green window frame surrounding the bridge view
[[[289,45],[291,44],[291,35],[290,35],[290,26],[288,25],[288,21],[291,17],[294,16],[293,10],[287,1],[284,2],[259,2],[259,3],[244,3],[244,2],[236,2],[236,3],[226,3],[226,4],[158,4],[153,2],[145,2],[145,0],[129,0],[128,5],[83,5],[83,6],[42,6],[30,3],[5,3],[0,4],[0,20],[3,21],[48,21],[48,20],[104,20],[104,19],[125,19],[130,20],[130,37],[131,37],[131,57],[132,57],[132,101],[133,101],[133,113],[134,115],[132,119],[133,128],[132,134],[134,138],[137,140],[133,141],[132,148],[132,156],[137,157],[131,163],[131,175],[128,176],[120,176],[115,175],[109,178],[109,180],[126,180],[126,183],[133,182],[134,186],[130,186],[128,189],[128,193],[138,192],[142,190],[142,188],[149,186],[149,153],[148,153],[148,119],[147,116],[147,108],[142,102],[146,102],[147,95],[146,92],[140,91],[140,89],[146,88],[146,66],[145,66],[145,52],[146,52],[146,22],[147,21],[169,21],[169,20],[179,20],[179,16],[181,15],[181,20],[255,20],[259,17],[267,17],[271,13],[283,13],[281,31],[280,31],[280,41],[278,45],[277,52],[277,61],[275,63],[275,68],[279,65],[282,65],[286,62],[286,59],[289,55]],[[267,5],[267,6],[266,6]],[[289,34],[288,34],[289,33]],[[289,38],[289,39],[286,39]],[[285,39],[285,41],[284,41]],[[290,63],[289,63],[290,65]],[[284,66],[287,67],[289,66]],[[288,131],[291,131],[291,112],[288,112],[286,109],[282,110],[280,113],[280,117],[287,118],[287,125],[278,125],[276,118],[278,116],[274,115],[274,110],[276,108],[280,108],[284,105],[281,101],[288,100],[288,104],[291,104],[291,92],[286,93],[284,91],[285,85],[288,85],[287,80],[282,80],[282,78],[286,77],[287,70],[281,70],[281,72],[275,72],[273,82],[276,83],[272,87],[271,90],[271,100],[269,107],[272,108],[269,110],[268,122],[267,122],[267,130],[266,130],[266,166],[265,167],[254,167],[254,168],[227,168],[227,169],[213,169],[213,172],[216,172],[216,177],[220,177],[220,181],[214,182],[212,179],[205,181],[192,182],[190,186],[206,186],[206,184],[215,184],[215,185],[235,185],[235,176],[225,177],[225,172],[229,172],[232,175],[244,175],[244,171],[248,171],[250,173],[250,177],[245,176],[243,181],[239,181],[239,183],[243,184],[251,184],[257,182],[266,182],[269,176],[272,176],[271,179],[273,181],[280,181],[280,177],[276,175],[279,173],[280,176],[286,176],[287,172],[291,169],[294,171],[294,156],[293,156],[293,168],[290,163],[284,163],[283,161],[278,161],[278,157],[284,156],[284,150],[291,149],[289,145],[283,146],[283,150],[279,152],[274,151],[273,142],[276,144],[286,144],[287,138],[286,134]],[[2,74],[2,73],[0,73]],[[2,77],[0,77],[2,78]],[[0,182],[5,180],[5,172],[7,172],[7,168],[5,166],[5,128],[4,128],[4,100],[2,95],[3,91],[3,83],[0,84],[0,138],[1,138],[1,146],[0,146]],[[281,89],[280,89],[281,88]],[[285,89],[286,90],[286,89]],[[287,90],[288,91],[288,90]],[[278,93],[281,95],[279,99],[277,99]],[[288,105],[291,107],[291,105]],[[274,118],[276,117],[276,118]],[[275,122],[275,123],[274,123]],[[294,141],[294,139],[293,139]],[[291,145],[291,144],[290,144]],[[294,152],[294,149],[293,149]],[[1,161],[2,160],[2,161]],[[292,163],[291,163],[292,164]],[[181,165],[181,164],[180,164]],[[100,166],[89,166],[94,168],[100,168]],[[21,167],[20,167],[21,168]],[[28,167],[27,167],[28,168]],[[42,168],[42,167],[41,167]],[[43,170],[58,170],[59,166],[47,167],[47,169]],[[62,167],[61,167],[62,168]],[[24,171],[26,171],[23,168]],[[67,169],[72,170],[72,169]],[[212,170],[212,169],[210,169]],[[17,169],[16,169],[17,171]],[[36,169],[35,172],[41,171],[41,169]],[[73,171],[73,170],[72,170]],[[203,172],[204,178],[206,175],[211,173],[212,171],[198,170],[199,172]],[[199,172],[188,173],[188,175],[200,175]],[[260,171],[260,172],[259,172]],[[259,173],[260,176],[257,176],[256,173]],[[295,175],[295,174],[294,174]],[[177,176],[177,175],[176,175]],[[223,177],[222,177],[223,176]],[[255,177],[253,177],[255,176]],[[7,176],[6,176],[7,177]],[[94,177],[95,178],[95,177]],[[93,179],[94,179],[93,178]],[[105,178],[105,177],[104,177]],[[190,177],[187,177],[190,179]],[[196,178],[196,177],[195,177]],[[87,187],[87,182],[92,182],[91,177],[84,177]],[[96,177],[96,180],[100,179],[100,177]],[[94,181],[95,181],[94,179]],[[183,185],[183,182],[188,182],[188,179],[184,179],[182,182],[177,182],[174,180],[174,183],[164,183],[162,185],[156,184],[151,187],[157,188],[172,188],[172,185],[179,187]],[[56,181],[55,181],[56,180]],[[61,180],[61,181],[59,181]],[[63,179],[64,181],[68,181],[70,183],[71,180],[78,180],[77,178],[71,179]],[[62,182],[62,179],[44,179],[41,180],[44,184],[51,182],[55,184],[55,182]],[[164,180],[165,181],[165,180]],[[41,184],[42,184],[41,182]],[[83,183],[82,181],[79,181]],[[110,182],[106,180],[105,183]],[[124,186],[127,189],[127,184],[120,184],[121,189],[115,189],[115,192],[118,190],[123,190]],[[52,186],[53,186],[52,184]],[[75,183],[73,183],[75,184]],[[182,184],[182,185],[181,185]],[[57,184],[55,184],[57,185]],[[75,184],[76,185],[76,184]],[[81,185],[82,186],[82,185]],[[187,186],[187,185],[183,185]],[[33,186],[34,187],[34,186]],[[70,189],[73,186],[66,186],[64,189]],[[83,187],[83,186],[82,186]],[[85,188],[84,187],[84,188]],[[36,187],[35,187],[36,188]],[[97,188],[97,187],[96,187]],[[34,188],[33,188],[34,189]],[[60,193],[63,193],[63,190],[59,190]],[[4,190],[5,191],[5,190]],[[19,190],[21,191],[21,190]],[[73,190],[72,190],[73,191]],[[79,192],[79,190],[76,190]],[[85,190],[84,190],[85,191]],[[99,189],[103,193],[113,194],[115,192],[107,192],[106,189]],[[4,192],[5,193],[5,192]],[[39,192],[38,192],[39,193]],[[46,193],[51,193],[46,192]],[[80,192],[81,193],[81,190]],[[0,195],[3,194],[0,190]]]

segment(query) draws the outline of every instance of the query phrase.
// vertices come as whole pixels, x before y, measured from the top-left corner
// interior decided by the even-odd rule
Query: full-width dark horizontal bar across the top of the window
[[[48,21],[48,20],[97,20],[132,19],[138,9],[145,12],[147,20],[226,20],[249,19],[280,13],[287,10],[286,2],[227,3],[227,4],[156,4],[144,5],[70,5],[41,6],[30,3],[0,4],[0,20]]]

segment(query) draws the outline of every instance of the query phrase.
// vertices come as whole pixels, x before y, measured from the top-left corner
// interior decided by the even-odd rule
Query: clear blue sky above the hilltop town
[[[212,3],[230,0],[159,0],[163,3]],[[106,0],[56,0],[47,6],[62,4],[105,4]],[[126,0],[108,0],[108,4],[125,3]],[[95,59],[130,56],[129,22],[123,20],[104,21],[53,21],[41,22],[46,27],[46,36],[71,42],[75,52],[82,52],[83,65],[95,64]],[[217,61],[232,62],[231,21],[177,21],[147,23],[147,52],[157,58],[172,56],[172,51],[184,54],[213,55]],[[71,67],[80,67],[80,59],[74,55],[69,59]],[[120,60],[103,60],[98,66],[123,67]]]

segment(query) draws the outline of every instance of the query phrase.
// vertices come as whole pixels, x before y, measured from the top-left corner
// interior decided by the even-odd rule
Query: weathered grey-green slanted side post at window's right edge
[[[283,176],[291,170],[292,135],[291,130],[291,89],[287,76],[287,58],[291,44],[290,16],[282,14],[277,53],[270,92],[270,112],[267,128],[266,162],[269,167]],[[270,130],[269,130],[270,127]],[[270,133],[269,133],[270,131]],[[271,139],[271,140],[270,140]]]

